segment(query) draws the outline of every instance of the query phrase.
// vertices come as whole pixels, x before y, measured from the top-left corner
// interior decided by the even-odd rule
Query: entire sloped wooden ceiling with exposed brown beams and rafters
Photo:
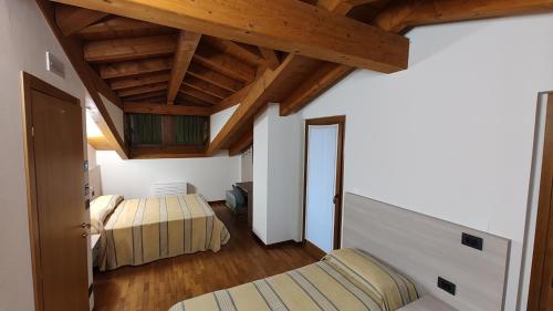
[[[247,147],[269,102],[289,115],[355,68],[407,69],[403,34],[413,27],[553,9],[553,0],[36,2],[80,46],[94,87],[127,113],[210,115],[240,104],[206,155]]]

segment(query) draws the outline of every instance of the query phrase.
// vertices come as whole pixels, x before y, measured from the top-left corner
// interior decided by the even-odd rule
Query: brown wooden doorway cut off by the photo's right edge
[[[529,311],[553,311],[553,95],[547,97]]]

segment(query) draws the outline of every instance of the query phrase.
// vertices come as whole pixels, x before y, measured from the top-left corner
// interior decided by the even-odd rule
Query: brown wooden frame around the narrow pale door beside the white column
[[[302,241],[307,250],[321,257],[325,255],[319,247],[311,243],[305,238],[306,227],[306,211],[307,211],[307,156],[309,156],[309,126],[310,125],[338,125],[338,142],[337,142],[337,157],[336,157],[336,189],[335,194],[338,196],[334,205],[334,249],[342,246],[342,205],[344,197],[344,141],[345,141],[345,115],[335,115],[305,120],[305,142],[304,142],[304,163],[303,163],[303,231]]]

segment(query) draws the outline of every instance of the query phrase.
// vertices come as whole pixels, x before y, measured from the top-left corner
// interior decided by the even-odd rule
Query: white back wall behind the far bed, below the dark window
[[[222,154],[206,158],[122,160],[115,152],[96,152],[102,193],[125,198],[148,196],[154,182],[187,182],[207,200],[225,199],[225,191],[240,182],[239,157]]]

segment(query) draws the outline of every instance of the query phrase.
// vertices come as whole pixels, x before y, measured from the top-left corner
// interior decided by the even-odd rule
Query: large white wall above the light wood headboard
[[[551,29],[552,14],[418,28],[407,71],[356,71],[302,112],[347,115],[346,191],[511,239],[505,310],[517,305],[538,94],[553,89]]]

